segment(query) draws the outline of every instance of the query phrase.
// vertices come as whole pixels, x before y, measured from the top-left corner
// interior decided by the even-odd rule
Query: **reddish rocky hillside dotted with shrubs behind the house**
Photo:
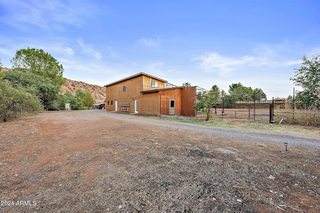
[[[79,88],[84,88],[91,92],[95,103],[101,103],[105,99],[104,87],[93,84],[87,84],[82,81],[73,81],[69,79],[66,79],[65,83],[61,86],[60,93],[63,94],[66,91],[70,91],[73,95],[75,95],[75,90]]]

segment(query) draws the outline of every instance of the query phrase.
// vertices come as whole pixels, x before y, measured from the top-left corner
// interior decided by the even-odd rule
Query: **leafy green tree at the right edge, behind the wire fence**
[[[301,67],[294,70],[295,75],[290,80],[303,88],[297,98],[304,106],[320,109],[320,55],[312,56],[312,59],[304,55]]]

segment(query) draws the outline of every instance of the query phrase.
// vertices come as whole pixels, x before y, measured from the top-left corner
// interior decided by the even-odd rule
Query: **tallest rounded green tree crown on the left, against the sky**
[[[30,72],[52,80],[53,85],[61,86],[64,83],[62,78],[63,67],[49,53],[42,49],[20,49],[10,60],[12,69]]]

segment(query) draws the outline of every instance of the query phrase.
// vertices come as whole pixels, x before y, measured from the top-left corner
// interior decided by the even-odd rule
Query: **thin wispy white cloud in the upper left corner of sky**
[[[2,0],[1,6],[5,8],[6,16],[0,21],[23,30],[28,30],[25,24],[36,25],[45,30],[62,30],[64,26],[61,23],[80,27],[84,17],[95,14],[97,10],[88,2],[65,3],[59,0]]]

